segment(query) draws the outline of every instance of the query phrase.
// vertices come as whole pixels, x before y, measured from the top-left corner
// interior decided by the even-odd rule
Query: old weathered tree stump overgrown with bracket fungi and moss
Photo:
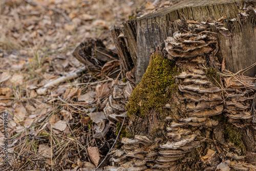
[[[138,85],[106,170],[256,170],[255,8],[187,0],[112,27]]]

